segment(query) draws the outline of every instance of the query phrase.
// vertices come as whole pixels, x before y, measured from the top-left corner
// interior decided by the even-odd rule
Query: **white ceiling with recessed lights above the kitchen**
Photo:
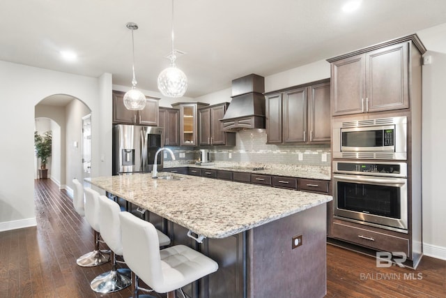
[[[361,47],[446,23],[445,0],[362,0],[346,14],[346,0],[176,0],[177,60],[197,97],[256,73],[279,73]],[[169,65],[169,0],[1,0],[0,60],[98,77],[131,86],[131,31],[140,89],[157,91]],[[76,62],[60,50],[73,50]],[[428,49],[429,50],[429,49]]]

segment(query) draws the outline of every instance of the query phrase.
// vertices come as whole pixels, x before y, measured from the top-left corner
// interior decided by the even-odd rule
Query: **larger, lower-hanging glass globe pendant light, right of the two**
[[[158,89],[167,97],[181,97],[187,89],[187,77],[182,70],[176,67],[176,54],[174,50],[174,0],[172,0],[172,52],[169,56],[170,67],[162,70],[158,75]]]

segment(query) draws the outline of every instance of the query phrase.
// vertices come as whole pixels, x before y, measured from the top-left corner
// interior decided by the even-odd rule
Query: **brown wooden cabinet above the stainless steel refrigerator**
[[[146,96],[146,107],[141,111],[127,110],[124,105],[125,92],[113,91],[113,123],[158,126],[158,100]]]

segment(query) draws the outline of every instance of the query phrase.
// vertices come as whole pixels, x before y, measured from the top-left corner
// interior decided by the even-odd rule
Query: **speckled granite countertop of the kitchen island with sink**
[[[172,175],[158,173],[158,177]],[[88,178],[94,186],[208,238],[225,238],[330,202],[330,195],[174,174]]]

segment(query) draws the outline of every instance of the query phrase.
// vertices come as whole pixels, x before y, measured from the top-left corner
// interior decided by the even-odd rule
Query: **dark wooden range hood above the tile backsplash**
[[[265,128],[265,79],[260,75],[246,75],[232,80],[232,100],[224,113],[224,131]]]

